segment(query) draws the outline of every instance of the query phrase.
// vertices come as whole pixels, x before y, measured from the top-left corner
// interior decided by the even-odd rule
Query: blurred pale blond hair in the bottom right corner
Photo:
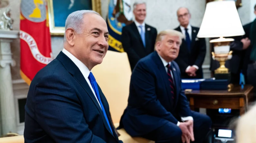
[[[238,119],[236,143],[256,142],[256,104]]]

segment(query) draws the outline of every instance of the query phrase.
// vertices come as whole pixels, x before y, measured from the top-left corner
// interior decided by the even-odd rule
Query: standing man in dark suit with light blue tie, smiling
[[[157,31],[156,28],[145,24],[146,3],[134,3],[133,14],[135,21],[123,27],[121,42],[127,52],[131,70],[138,60],[154,51]]]

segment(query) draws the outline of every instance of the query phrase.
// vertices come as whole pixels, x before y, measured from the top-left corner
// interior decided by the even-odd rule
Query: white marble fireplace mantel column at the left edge
[[[14,94],[12,86],[11,66],[15,66],[12,59],[11,42],[19,38],[19,31],[0,30],[0,110],[1,134],[17,132]]]

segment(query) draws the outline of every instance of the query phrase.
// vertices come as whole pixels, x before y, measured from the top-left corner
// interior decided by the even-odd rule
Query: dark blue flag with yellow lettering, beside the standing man
[[[124,52],[121,43],[122,28],[132,22],[130,0],[109,0],[107,16],[109,50]]]

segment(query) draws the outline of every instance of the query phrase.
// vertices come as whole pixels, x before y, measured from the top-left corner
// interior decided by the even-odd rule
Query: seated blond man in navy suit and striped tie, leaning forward
[[[181,89],[180,69],[175,61],[183,34],[176,30],[160,32],[156,51],[138,61],[130,81],[128,106],[120,128],[132,137],[156,143],[203,143],[211,127],[207,115],[191,111]]]

